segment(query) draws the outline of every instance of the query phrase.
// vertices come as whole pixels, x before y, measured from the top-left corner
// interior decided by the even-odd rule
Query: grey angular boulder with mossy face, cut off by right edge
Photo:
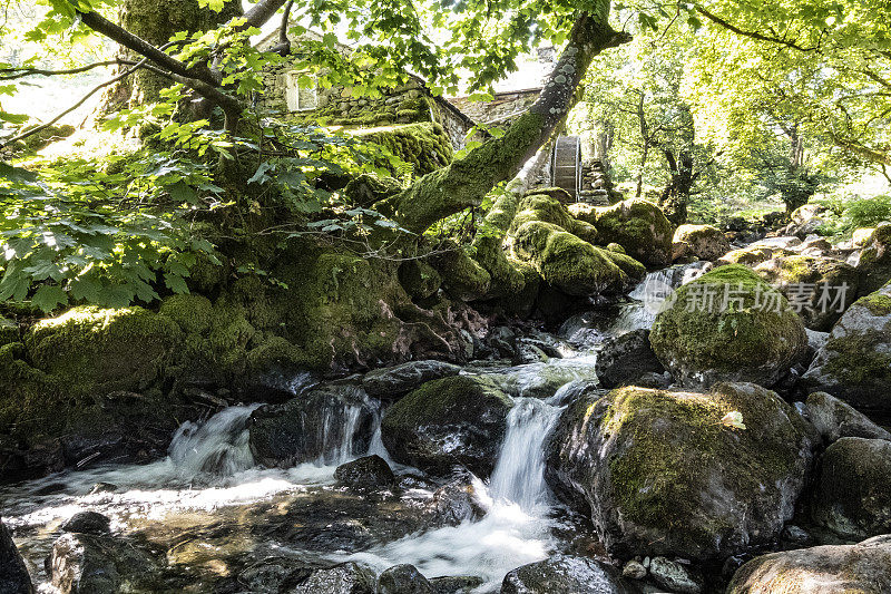
[[[891,410],[891,284],[844,312],[801,384],[805,393],[829,392],[859,409]]]

